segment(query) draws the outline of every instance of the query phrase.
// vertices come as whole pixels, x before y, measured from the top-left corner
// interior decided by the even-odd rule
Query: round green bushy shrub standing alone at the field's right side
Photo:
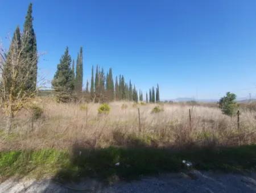
[[[238,104],[236,103],[236,94],[234,93],[226,93],[226,96],[223,96],[218,102],[221,111],[225,115],[234,116],[236,115],[236,111],[238,109]]]

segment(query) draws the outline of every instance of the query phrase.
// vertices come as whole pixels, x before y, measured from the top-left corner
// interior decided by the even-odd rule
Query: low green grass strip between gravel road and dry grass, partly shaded
[[[193,168],[199,170],[255,170],[256,145],[179,152],[115,147],[90,150],[77,146],[72,152],[54,149],[7,151],[0,153],[0,174],[2,179],[30,175],[36,178],[53,176],[59,180],[96,177],[112,181],[113,178],[131,179],[187,170],[182,160],[191,161]]]

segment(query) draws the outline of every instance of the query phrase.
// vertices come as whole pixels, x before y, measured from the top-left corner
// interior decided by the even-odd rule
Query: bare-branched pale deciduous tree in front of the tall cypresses
[[[19,28],[14,33],[9,51],[0,47],[0,100],[7,118],[7,131],[10,132],[15,114],[37,93],[35,88],[27,88],[26,83],[35,71],[23,57],[28,42],[20,39]],[[34,61],[38,60],[36,56]]]

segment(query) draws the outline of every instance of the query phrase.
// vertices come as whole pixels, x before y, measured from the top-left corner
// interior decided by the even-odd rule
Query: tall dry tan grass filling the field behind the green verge
[[[15,119],[13,133],[0,130],[0,150],[69,149],[118,146],[226,146],[256,142],[255,111],[241,110],[240,130],[237,119],[222,115],[216,107],[189,104],[159,104],[164,111],[152,114],[156,104],[110,103],[110,113],[98,115],[100,104],[59,104],[51,98],[38,98],[43,116],[31,124],[31,113],[22,110]],[[126,104],[127,108],[123,108]],[[141,133],[138,124],[141,112]],[[192,121],[189,125],[188,110]],[[5,119],[0,114],[0,129]]]

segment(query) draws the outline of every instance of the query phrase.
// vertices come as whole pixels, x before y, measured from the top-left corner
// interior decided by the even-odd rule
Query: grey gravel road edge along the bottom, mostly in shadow
[[[139,181],[104,185],[92,179],[81,183],[59,184],[43,181],[9,179],[0,184],[0,192],[256,192],[256,173],[224,174],[203,171],[161,174]]]

